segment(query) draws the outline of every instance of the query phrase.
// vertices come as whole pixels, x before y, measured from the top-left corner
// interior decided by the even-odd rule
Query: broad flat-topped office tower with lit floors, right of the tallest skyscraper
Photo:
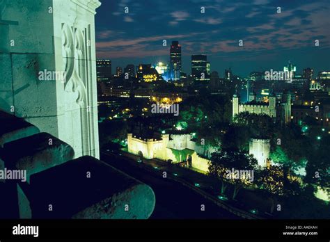
[[[195,81],[210,81],[210,75],[207,74],[207,56],[191,56],[191,76]]]

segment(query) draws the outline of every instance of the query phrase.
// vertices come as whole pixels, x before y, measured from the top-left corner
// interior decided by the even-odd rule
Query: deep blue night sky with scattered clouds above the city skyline
[[[211,70],[283,70],[291,61],[330,70],[330,1],[100,0],[95,16],[97,58],[112,70],[132,63],[169,61],[172,40],[182,45],[182,69],[191,73],[191,54],[207,54]],[[124,13],[125,6],[129,13]],[[201,7],[205,13],[201,13]],[[277,7],[281,13],[276,13]],[[163,47],[163,40],[167,47]],[[320,47],[315,47],[315,40]],[[244,47],[239,47],[239,40]]]

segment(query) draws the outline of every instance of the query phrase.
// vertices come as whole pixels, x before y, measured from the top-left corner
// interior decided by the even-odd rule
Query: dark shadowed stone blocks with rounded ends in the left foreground
[[[149,218],[150,186],[92,156],[73,159],[70,145],[8,115],[0,111],[1,160],[26,181],[0,183],[0,218]]]

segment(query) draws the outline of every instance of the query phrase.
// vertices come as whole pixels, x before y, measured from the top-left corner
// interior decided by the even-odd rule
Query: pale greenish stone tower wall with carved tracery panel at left
[[[75,157],[98,158],[94,15],[100,1],[0,3],[0,109],[68,143]]]

